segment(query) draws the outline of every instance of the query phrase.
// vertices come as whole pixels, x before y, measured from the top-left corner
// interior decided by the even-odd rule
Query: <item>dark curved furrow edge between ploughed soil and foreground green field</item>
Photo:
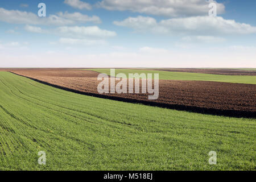
[[[19,75],[18,73],[11,72],[15,75]],[[197,107],[197,106],[185,106],[185,105],[179,105],[179,104],[166,104],[166,103],[160,103],[160,102],[152,102],[147,100],[138,100],[135,98],[122,98],[118,96],[110,96],[110,95],[103,95],[98,93],[92,93],[92,92],[82,92],[80,90],[67,88],[65,86],[60,86],[56,84],[51,84],[46,81],[38,80],[37,78],[31,78],[24,75],[19,75],[26,78],[30,78],[31,80],[40,82],[42,84],[46,84],[49,86],[53,86],[55,88],[63,89],[69,92],[83,94],[86,96],[93,96],[93,97],[99,97],[99,98],[106,98],[110,100],[116,100],[116,101],[122,101],[122,102],[130,102],[134,104],[144,104],[149,106],[157,106],[157,107],[164,107],[168,109],[176,109],[176,110],[183,110],[183,111],[191,111],[195,113],[201,113],[201,114],[212,114],[212,115],[224,115],[228,117],[238,117],[238,118],[256,118],[256,112],[255,111],[243,111],[243,110],[229,110],[229,109],[214,109],[214,108],[207,108],[207,107]]]

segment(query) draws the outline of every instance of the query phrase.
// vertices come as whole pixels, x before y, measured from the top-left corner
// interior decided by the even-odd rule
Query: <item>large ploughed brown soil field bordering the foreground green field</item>
[[[18,69],[17,75],[57,88],[113,100],[235,117],[256,117],[256,85],[212,81],[159,80],[158,100],[148,94],[99,94],[97,72],[69,69]],[[128,81],[127,81],[128,82]]]

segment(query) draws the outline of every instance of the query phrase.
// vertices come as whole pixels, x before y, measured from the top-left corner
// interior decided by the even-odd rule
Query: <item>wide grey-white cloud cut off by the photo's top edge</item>
[[[130,10],[137,13],[177,17],[208,15],[210,2],[216,3],[217,14],[225,12],[225,6],[213,0],[103,0],[97,5],[106,10]]]

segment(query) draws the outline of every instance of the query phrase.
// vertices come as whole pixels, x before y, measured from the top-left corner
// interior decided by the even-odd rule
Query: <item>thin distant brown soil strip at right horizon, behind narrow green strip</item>
[[[256,71],[243,71],[239,69],[197,69],[197,68],[162,68],[155,69],[168,72],[208,73],[214,75],[248,75],[256,76]]]

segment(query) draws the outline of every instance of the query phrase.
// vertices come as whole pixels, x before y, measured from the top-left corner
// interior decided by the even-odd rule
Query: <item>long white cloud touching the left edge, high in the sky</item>
[[[49,15],[46,18],[39,18],[38,15],[27,11],[6,10],[0,8],[0,21],[16,24],[33,24],[33,25],[54,25],[65,26],[76,23],[94,22],[100,23],[98,16],[88,16],[81,13],[58,13]]]

